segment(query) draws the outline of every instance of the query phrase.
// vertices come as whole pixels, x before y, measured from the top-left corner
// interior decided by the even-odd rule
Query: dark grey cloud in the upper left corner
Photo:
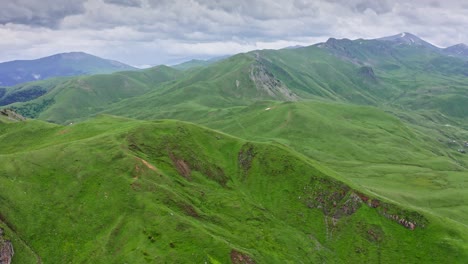
[[[2,0],[0,24],[24,24],[31,26],[56,27],[70,15],[85,12],[83,0]]]

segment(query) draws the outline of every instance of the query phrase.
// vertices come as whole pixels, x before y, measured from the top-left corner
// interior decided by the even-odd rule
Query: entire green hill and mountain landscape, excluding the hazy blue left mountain
[[[0,119],[14,261],[466,263],[468,62],[447,54],[405,33],[7,88],[73,123]]]

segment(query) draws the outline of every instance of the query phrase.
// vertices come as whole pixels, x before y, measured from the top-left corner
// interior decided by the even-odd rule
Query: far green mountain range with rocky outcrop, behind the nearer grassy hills
[[[103,110],[146,119],[179,118],[188,111],[202,117],[208,112],[243,107],[259,100],[304,99],[391,105],[411,110],[436,109],[448,116],[466,118],[466,61],[427,48],[425,44],[394,43],[394,39],[409,38],[419,43],[408,33],[405,37],[385,38],[388,40],[329,39],[304,48],[238,54],[180,72],[174,82],[151,83],[155,89],[140,89],[138,93],[108,98],[105,105],[112,103],[110,107],[72,102],[69,104],[70,115],[62,108],[51,107],[52,102],[47,103],[47,95],[41,94],[47,89],[36,89],[36,83],[27,85],[35,89],[16,87],[4,90],[3,101],[40,96],[39,102],[34,102],[39,106],[33,110],[21,110],[23,104],[19,104],[17,110],[24,115],[59,123]],[[99,78],[113,79],[113,85],[125,86],[126,79],[118,76],[121,75]],[[72,82],[73,87],[82,86],[76,80]],[[141,82],[132,85],[149,85],[147,80],[142,79]],[[13,91],[18,91],[19,96],[15,97]],[[48,113],[41,115],[44,111]]]

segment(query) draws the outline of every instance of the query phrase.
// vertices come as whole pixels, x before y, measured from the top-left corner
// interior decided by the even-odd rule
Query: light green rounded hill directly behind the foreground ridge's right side
[[[206,124],[288,145],[374,193],[466,223],[468,157],[457,152],[466,131],[413,122],[373,107],[311,101],[258,103]]]

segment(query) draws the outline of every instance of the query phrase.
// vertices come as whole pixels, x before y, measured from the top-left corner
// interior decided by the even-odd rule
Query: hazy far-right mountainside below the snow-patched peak
[[[330,39],[317,47],[357,66],[370,67],[370,76],[379,81],[373,94],[381,98],[381,104],[467,117],[466,60],[447,56],[414,35],[379,40]]]

